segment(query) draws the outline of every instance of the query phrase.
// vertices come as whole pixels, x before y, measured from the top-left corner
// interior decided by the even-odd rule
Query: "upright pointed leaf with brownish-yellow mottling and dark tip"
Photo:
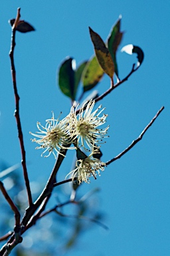
[[[92,43],[94,45],[94,51],[96,53],[96,57],[98,59],[98,62],[104,72],[113,79],[114,76],[114,61],[112,59],[112,56],[106,47],[104,41],[98,35],[98,33],[94,32],[90,27],[90,37],[92,39]]]

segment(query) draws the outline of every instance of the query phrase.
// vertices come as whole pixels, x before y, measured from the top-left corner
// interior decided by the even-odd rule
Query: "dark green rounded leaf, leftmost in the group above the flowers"
[[[73,59],[69,57],[60,65],[58,84],[62,93],[74,101],[75,71],[72,68],[72,61]]]

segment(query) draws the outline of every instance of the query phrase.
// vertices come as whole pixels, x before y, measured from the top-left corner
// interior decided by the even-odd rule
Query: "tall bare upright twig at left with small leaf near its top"
[[[24,146],[24,141],[23,141],[23,131],[21,128],[21,119],[19,115],[19,94],[17,92],[17,82],[16,82],[16,72],[15,72],[15,64],[14,64],[14,49],[15,49],[15,33],[16,33],[16,27],[17,23],[20,18],[20,8],[17,9],[17,17],[15,19],[15,23],[12,27],[12,35],[11,35],[11,49],[9,52],[9,57],[11,59],[11,75],[13,79],[13,89],[14,89],[14,94],[15,94],[15,118],[17,121],[17,128],[18,128],[18,136],[19,136],[19,142],[20,142],[20,147],[21,147],[21,155],[22,155],[22,165],[23,165],[23,175],[25,179],[25,185],[27,187],[27,194],[28,194],[28,199],[29,199],[29,205],[32,205],[33,199],[31,195],[31,189],[30,189],[30,184],[29,184],[29,177],[27,173],[27,165],[26,165],[26,157],[25,157],[25,146]]]

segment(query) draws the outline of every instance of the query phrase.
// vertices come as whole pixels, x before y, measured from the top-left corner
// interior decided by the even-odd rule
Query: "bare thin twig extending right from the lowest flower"
[[[159,116],[161,111],[163,111],[163,109],[164,109],[164,107],[161,107],[161,109],[159,109],[159,111],[156,113],[155,117],[153,117],[153,119],[151,119],[150,123],[145,127],[145,129],[143,129],[143,131],[141,132],[139,137],[137,137],[137,139],[132,141],[132,143],[124,151],[122,151],[119,155],[117,155],[116,157],[114,157],[110,161],[106,162],[106,165],[110,165],[110,163],[116,161],[117,159],[120,159],[120,157],[122,157],[122,155],[125,155],[132,147],[134,147],[134,145],[142,139],[142,137],[145,134],[145,132],[147,131],[147,129],[149,129],[149,127],[151,127],[151,125],[153,124],[155,119],[157,119],[157,117]]]

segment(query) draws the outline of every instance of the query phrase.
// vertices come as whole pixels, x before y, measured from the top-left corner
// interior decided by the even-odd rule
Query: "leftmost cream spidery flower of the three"
[[[39,139],[31,139],[31,141],[40,144],[40,147],[35,149],[45,149],[41,156],[48,151],[48,157],[51,153],[56,158],[57,153],[60,155],[64,149],[75,149],[75,147],[66,147],[66,145],[72,143],[72,139],[69,136],[67,119],[64,118],[61,121],[54,119],[54,113],[52,112],[52,118],[46,120],[46,125],[43,127],[41,123],[37,122],[39,131],[36,134],[31,135],[38,137]],[[65,146],[64,146],[65,145]],[[63,155],[64,156],[64,155]]]

